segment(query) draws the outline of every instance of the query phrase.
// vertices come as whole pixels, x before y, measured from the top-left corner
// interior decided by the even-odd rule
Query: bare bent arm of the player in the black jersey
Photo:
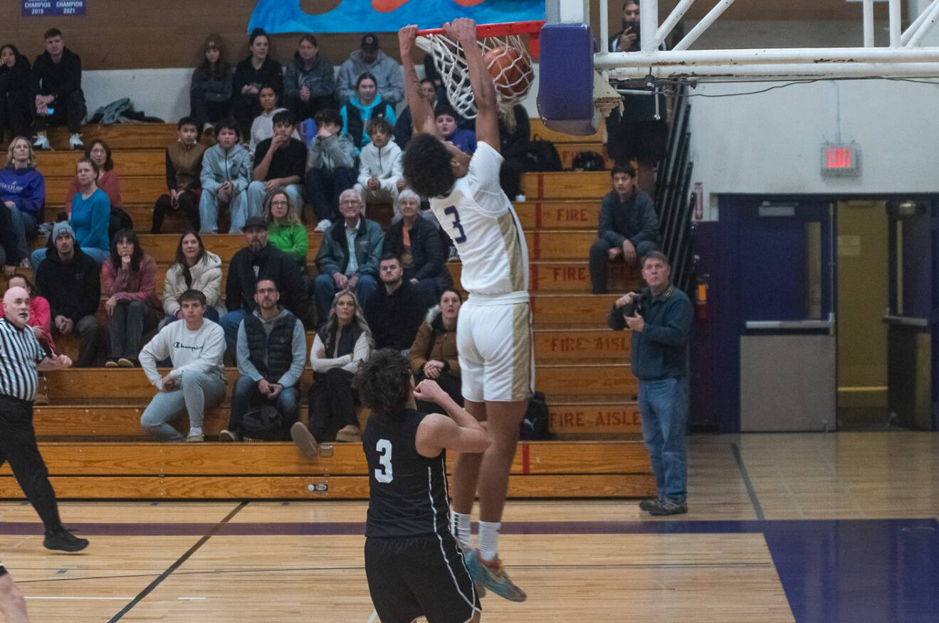
[[[421,421],[414,447],[423,456],[437,456],[442,448],[456,452],[482,452],[492,443],[485,427],[466,409],[454,403],[454,399],[437,383],[423,380],[414,388],[414,398],[437,403],[449,416],[432,413]]]

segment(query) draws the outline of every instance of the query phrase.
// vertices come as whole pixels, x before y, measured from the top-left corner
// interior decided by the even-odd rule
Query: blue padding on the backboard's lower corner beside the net
[[[541,29],[539,47],[538,114],[550,129],[593,134],[596,128],[590,26],[546,24]]]

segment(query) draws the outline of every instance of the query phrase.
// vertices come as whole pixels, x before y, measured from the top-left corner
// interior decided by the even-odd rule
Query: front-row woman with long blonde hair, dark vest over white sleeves
[[[356,406],[359,397],[352,378],[372,352],[372,334],[359,300],[351,292],[332,299],[329,316],[316,331],[310,347],[313,387],[310,387],[308,426],[297,422],[290,437],[303,454],[316,456],[322,441],[362,442]]]

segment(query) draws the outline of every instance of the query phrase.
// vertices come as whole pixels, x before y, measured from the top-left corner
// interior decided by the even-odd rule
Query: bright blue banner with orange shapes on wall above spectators
[[[259,0],[248,31],[268,33],[396,32],[408,23],[438,28],[457,17],[476,23],[527,22],[545,19],[545,0],[344,0],[331,11],[314,15],[300,0]]]

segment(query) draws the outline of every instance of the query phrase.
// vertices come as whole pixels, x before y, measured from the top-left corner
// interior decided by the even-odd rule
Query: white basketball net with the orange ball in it
[[[501,108],[511,108],[525,96],[534,80],[531,54],[519,35],[486,37],[477,40],[480,51],[496,84]],[[417,38],[417,45],[434,57],[434,66],[447,89],[447,99],[454,110],[466,119],[476,116],[476,102],[469,85],[469,68],[463,48],[442,34]]]

